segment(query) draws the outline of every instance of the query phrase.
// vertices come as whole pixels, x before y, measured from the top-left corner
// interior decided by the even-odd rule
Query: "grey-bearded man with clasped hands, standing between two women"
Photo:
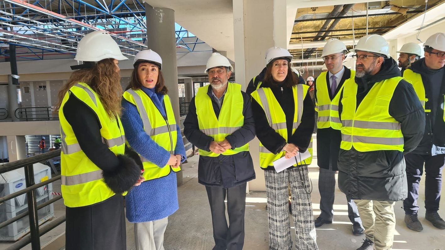
[[[184,120],[184,135],[199,149],[198,182],[209,198],[214,250],[243,249],[246,186],[255,179],[248,144],[255,137],[251,101],[241,85],[228,82],[232,70],[225,56],[210,56],[210,85],[198,89]]]

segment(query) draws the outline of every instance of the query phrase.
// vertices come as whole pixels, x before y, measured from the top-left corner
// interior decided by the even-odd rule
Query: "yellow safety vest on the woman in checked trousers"
[[[301,116],[303,115],[303,100],[307,95],[307,91],[309,86],[305,84],[297,84],[292,87],[292,92],[294,95],[294,105],[295,105],[295,113],[294,113],[294,123],[292,127],[292,134],[295,133],[295,130],[298,128],[301,123]],[[266,114],[267,121],[269,125],[281,135],[287,142],[287,124],[286,124],[286,115],[284,114],[283,109],[279,105],[275,95],[272,90],[268,87],[262,87],[257,89],[251,94],[252,98],[255,99],[259,103],[259,105],[263,108],[264,113]],[[303,160],[295,164],[294,166],[299,165],[308,165],[312,163],[312,137],[311,142],[309,143],[309,147],[307,150],[311,153],[311,157]],[[284,157],[286,154],[285,151],[281,151],[278,154],[274,154],[271,151],[268,151],[266,147],[264,147],[263,143],[259,143],[259,165],[262,168],[267,168],[268,166],[272,166],[273,162]]]

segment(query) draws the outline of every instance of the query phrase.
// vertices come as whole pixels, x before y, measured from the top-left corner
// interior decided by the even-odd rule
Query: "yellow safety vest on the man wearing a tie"
[[[338,119],[339,115],[338,115],[338,103],[334,103],[334,99],[336,99],[336,97],[338,95],[340,95],[341,90],[343,89],[344,83],[343,85],[340,87],[340,90],[337,92],[336,96],[334,96],[334,98],[329,98],[329,89],[328,89],[328,83],[326,82],[326,75],[328,74],[329,71],[326,72],[322,72],[318,77],[317,77],[317,84],[316,84],[316,88],[317,88],[317,98],[316,98],[316,103],[315,103],[315,110],[318,112],[318,119],[317,119],[317,128],[328,128],[328,127],[332,127],[331,126],[331,120],[334,119],[336,122],[338,122],[340,124],[340,119]],[[351,70],[351,77],[349,79],[345,80],[346,81],[354,81],[356,75],[356,71]],[[338,99],[338,98],[337,98]],[[333,107],[334,110],[336,109],[337,112],[332,113],[331,112],[331,107],[332,106],[336,106]],[[331,117],[331,113],[332,113],[332,117]]]

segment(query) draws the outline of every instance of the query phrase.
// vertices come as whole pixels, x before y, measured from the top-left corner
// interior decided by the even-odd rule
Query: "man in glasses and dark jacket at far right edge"
[[[442,170],[445,165],[445,33],[436,33],[425,41],[425,58],[417,60],[405,70],[425,108],[425,134],[419,146],[405,155],[408,178],[408,198],[403,202],[406,226],[415,231],[423,229],[417,218],[419,182],[425,164],[425,218],[433,226],[445,229],[439,216],[442,189]]]

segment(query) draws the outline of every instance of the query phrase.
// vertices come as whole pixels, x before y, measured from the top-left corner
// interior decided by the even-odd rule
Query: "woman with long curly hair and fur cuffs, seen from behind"
[[[61,126],[61,190],[66,206],[66,250],[126,248],[125,194],[144,178],[125,154],[121,74],[126,60],[105,31],[82,37],[68,83],[54,108]],[[134,154],[131,154],[134,155]],[[137,155],[137,154],[136,154]]]

